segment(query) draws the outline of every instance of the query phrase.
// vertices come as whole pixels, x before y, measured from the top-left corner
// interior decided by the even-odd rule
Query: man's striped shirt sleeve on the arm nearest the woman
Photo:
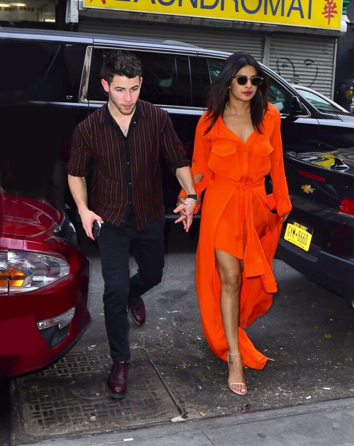
[[[171,119],[166,113],[166,121],[161,133],[162,153],[166,159],[170,170],[176,175],[176,170],[180,167],[190,166],[185,149],[176,135]]]

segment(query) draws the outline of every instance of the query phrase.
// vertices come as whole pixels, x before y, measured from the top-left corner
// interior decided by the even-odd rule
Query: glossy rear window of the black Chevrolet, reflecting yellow
[[[332,172],[354,176],[354,147],[329,152],[287,152],[285,157],[303,164],[318,166]]]

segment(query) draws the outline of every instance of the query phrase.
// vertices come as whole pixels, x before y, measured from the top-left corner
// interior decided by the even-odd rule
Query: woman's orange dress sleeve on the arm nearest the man
[[[194,149],[192,158],[192,174],[203,174],[202,181],[196,183],[195,188],[199,195],[202,191],[206,189],[209,180],[211,178],[212,172],[208,167],[208,161],[210,157],[211,141],[209,134],[204,135],[205,129],[207,128],[205,123],[205,114],[201,117],[198,122],[195,139],[194,139]],[[185,191],[182,189],[180,195],[185,195]],[[194,213],[197,213],[201,207],[201,203],[197,205]]]

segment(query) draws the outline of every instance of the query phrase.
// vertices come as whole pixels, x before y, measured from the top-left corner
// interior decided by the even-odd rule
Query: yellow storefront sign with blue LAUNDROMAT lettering
[[[85,8],[340,29],[343,0],[84,0]]]

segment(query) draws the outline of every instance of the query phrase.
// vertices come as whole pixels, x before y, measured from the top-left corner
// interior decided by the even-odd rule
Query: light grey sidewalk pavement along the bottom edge
[[[31,446],[123,442],[132,446],[354,446],[354,398],[45,440]]]

